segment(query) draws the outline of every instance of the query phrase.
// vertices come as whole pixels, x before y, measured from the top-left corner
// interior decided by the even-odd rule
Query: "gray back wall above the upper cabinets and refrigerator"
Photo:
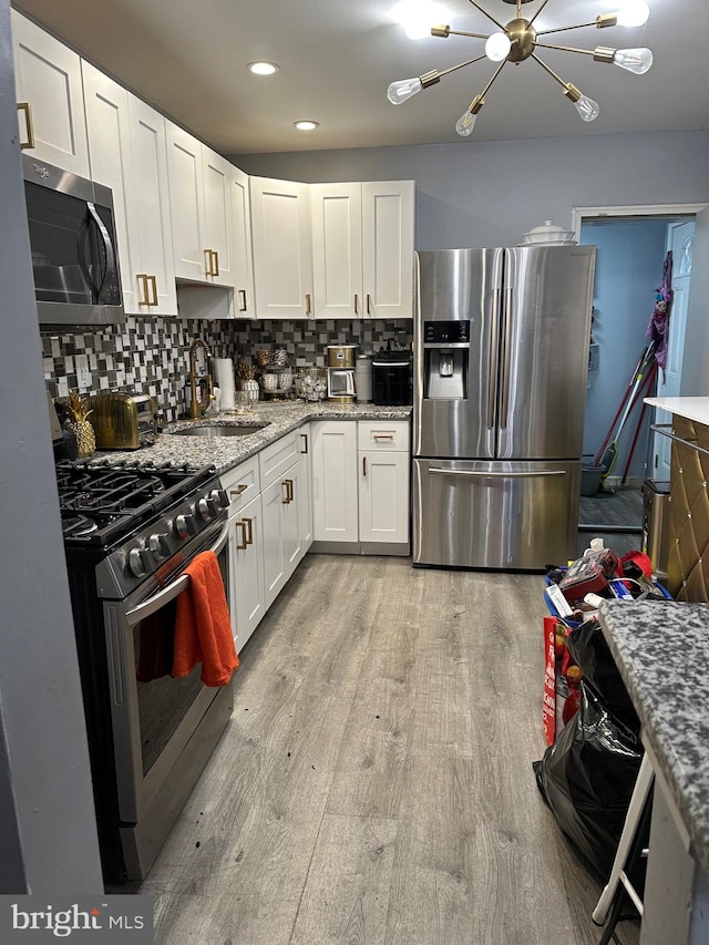
[[[290,181],[417,182],[418,249],[510,246],[575,206],[709,199],[709,131],[232,155]]]

